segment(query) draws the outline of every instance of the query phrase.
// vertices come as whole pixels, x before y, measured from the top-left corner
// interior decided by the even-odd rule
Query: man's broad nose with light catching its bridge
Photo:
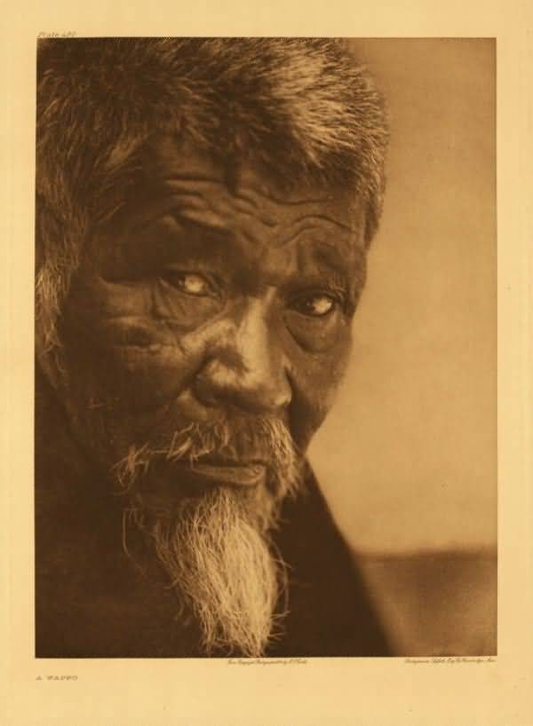
[[[291,398],[281,345],[269,331],[264,305],[254,299],[237,322],[212,343],[196,376],[205,406],[235,406],[253,414],[279,414]]]

